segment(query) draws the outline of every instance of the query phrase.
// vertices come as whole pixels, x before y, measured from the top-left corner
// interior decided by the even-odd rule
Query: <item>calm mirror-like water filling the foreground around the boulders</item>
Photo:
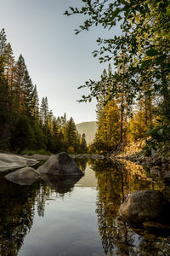
[[[134,190],[169,189],[132,162],[77,160],[81,179],[31,186],[0,178],[1,256],[170,255],[170,234],[128,226],[119,207]]]

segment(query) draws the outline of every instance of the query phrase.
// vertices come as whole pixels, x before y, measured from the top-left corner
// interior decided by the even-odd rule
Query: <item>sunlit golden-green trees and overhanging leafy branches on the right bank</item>
[[[94,57],[109,61],[101,79],[85,82],[79,102],[97,99],[98,130],[92,150],[116,149],[122,142],[146,140],[144,154],[170,152],[170,2],[167,0],[82,0],[76,29],[103,26],[111,38],[98,38]],[[84,17],[83,17],[84,18]],[[119,27],[119,35],[114,27]]]

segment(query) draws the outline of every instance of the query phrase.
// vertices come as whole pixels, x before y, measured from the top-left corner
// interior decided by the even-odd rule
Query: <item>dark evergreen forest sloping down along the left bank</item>
[[[66,114],[54,117],[48,98],[39,103],[22,55],[15,61],[4,29],[0,32],[0,151],[69,153],[87,150],[85,135],[78,134]]]

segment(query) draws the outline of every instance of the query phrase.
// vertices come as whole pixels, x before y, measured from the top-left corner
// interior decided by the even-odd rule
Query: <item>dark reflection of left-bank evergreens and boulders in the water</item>
[[[0,255],[16,256],[37,213],[43,217],[49,197],[70,192],[80,177],[46,177],[31,186],[9,183],[0,177]]]

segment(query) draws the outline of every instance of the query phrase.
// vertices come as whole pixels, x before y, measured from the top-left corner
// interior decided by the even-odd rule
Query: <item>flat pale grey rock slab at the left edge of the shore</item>
[[[15,154],[0,153],[0,172],[16,170],[25,166],[34,166],[37,160],[27,159]]]

